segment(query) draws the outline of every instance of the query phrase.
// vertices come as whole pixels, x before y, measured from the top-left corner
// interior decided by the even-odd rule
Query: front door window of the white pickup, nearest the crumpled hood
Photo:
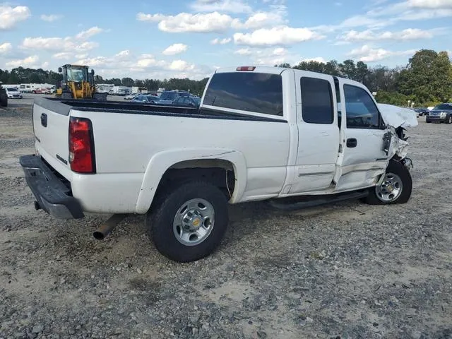
[[[379,129],[380,113],[369,93],[353,85],[344,85],[347,128]]]

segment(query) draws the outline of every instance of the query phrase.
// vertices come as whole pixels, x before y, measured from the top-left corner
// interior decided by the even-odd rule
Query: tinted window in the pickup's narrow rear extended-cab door
[[[332,124],[333,92],[329,81],[319,78],[300,79],[303,121],[310,124]]]

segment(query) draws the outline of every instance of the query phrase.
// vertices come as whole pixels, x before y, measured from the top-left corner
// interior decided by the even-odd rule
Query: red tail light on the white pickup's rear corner
[[[93,126],[90,119],[69,121],[69,162],[73,172],[95,173]]]

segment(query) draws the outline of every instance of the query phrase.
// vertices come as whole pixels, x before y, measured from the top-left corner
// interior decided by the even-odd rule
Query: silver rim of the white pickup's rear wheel
[[[215,223],[215,210],[208,201],[196,198],[186,201],[174,215],[173,232],[186,246],[201,244],[210,235]]]

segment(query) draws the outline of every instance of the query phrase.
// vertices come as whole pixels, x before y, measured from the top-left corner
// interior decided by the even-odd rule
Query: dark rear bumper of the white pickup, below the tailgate
[[[85,216],[81,204],[71,196],[71,189],[40,157],[23,155],[19,161],[28,186],[45,212],[59,219],[81,219]]]

